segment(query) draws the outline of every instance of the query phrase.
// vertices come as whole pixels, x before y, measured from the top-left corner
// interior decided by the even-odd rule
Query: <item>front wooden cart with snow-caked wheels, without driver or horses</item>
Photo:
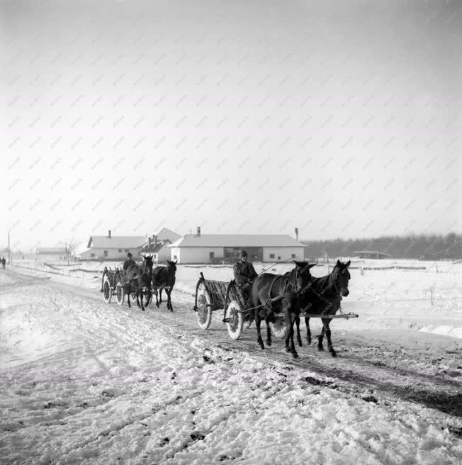
[[[271,307],[271,303],[278,301],[284,296],[276,296],[266,304]],[[211,281],[205,279],[203,273],[199,274],[199,280],[196,284],[196,294],[194,301],[194,310],[198,326],[203,330],[208,329],[212,321],[213,312],[223,310],[222,322],[227,325],[227,332],[231,339],[237,340],[242,334],[244,323],[252,323],[254,320],[254,310],[264,310],[265,306],[260,305],[252,308],[245,308],[245,303],[240,297],[236,288],[235,280]],[[300,318],[358,318],[356,313],[340,313],[339,315],[329,315],[328,313],[315,314],[302,312]],[[287,324],[284,315],[272,314],[271,331],[276,337],[285,337]]]

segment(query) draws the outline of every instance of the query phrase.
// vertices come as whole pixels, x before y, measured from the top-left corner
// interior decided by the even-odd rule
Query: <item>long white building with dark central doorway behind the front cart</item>
[[[230,263],[246,250],[252,262],[283,262],[304,258],[301,242],[279,234],[186,234],[169,245],[171,259],[178,263]]]

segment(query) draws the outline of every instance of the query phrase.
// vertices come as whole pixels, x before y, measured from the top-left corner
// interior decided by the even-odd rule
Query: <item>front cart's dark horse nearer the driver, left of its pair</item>
[[[300,315],[300,292],[310,285],[312,278],[310,268],[315,264],[296,262],[295,268],[285,275],[264,273],[255,278],[252,286],[252,304],[254,306],[254,320],[257,326],[257,342],[261,349],[264,343],[261,339],[260,323],[266,322],[266,345],[271,346],[271,328],[269,323],[274,322],[277,315],[283,313],[286,325],[286,351],[291,352],[293,358],[298,354],[293,343],[293,323]],[[271,299],[276,300],[271,302]],[[264,316],[261,315],[263,307]]]

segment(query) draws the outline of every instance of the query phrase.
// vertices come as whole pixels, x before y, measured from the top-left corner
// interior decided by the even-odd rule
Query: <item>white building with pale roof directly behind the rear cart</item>
[[[80,254],[81,260],[122,260],[128,252],[137,259],[142,246],[147,242],[146,236],[91,236],[87,250]]]

